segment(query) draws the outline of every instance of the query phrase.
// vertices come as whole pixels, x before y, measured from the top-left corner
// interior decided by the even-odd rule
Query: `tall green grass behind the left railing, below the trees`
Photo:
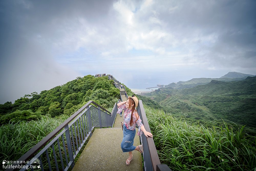
[[[112,110],[112,109],[111,109]],[[34,147],[39,141],[41,141],[45,136],[51,133],[54,129],[56,129],[60,124],[62,124],[65,120],[67,120],[70,115],[62,114],[57,117],[52,118],[50,115],[45,115],[40,118],[38,121],[20,121],[17,123],[9,123],[0,126],[0,161],[16,161],[22,155],[24,155],[30,148]],[[79,123],[80,125],[81,123]],[[76,132],[76,136],[73,135],[74,140],[71,140],[71,144],[74,144],[74,148],[77,150],[77,142],[76,140],[82,140],[82,134],[78,134],[77,127],[79,127],[77,122],[72,124],[73,133]],[[81,125],[80,125],[81,126]],[[86,123],[84,125],[86,127]],[[75,127],[75,128],[74,128]],[[92,132],[95,128],[92,130]],[[65,134],[65,135],[64,135]],[[63,134],[63,141],[66,142],[66,133]],[[70,132],[71,137],[71,132]],[[82,153],[85,145],[89,141],[90,137],[88,137],[87,141],[81,148],[80,152],[77,154],[77,157],[74,159],[74,162],[77,161],[80,154]],[[67,154],[67,158],[69,158],[69,154],[67,151],[67,144],[63,144],[62,137],[59,137],[57,141],[53,143],[51,147],[47,149],[47,152],[44,152],[40,158],[42,161],[42,165],[44,165],[45,170],[49,170],[48,161],[46,158],[46,153],[49,155],[50,165],[53,170],[57,170],[57,167],[61,170],[62,167],[66,167],[67,164],[65,162],[65,151]],[[58,143],[59,146],[58,147]],[[79,142],[78,142],[79,143]],[[79,145],[79,144],[78,144]],[[73,150],[73,148],[72,148]],[[40,150],[39,150],[40,151]],[[74,152],[73,152],[74,153]],[[56,156],[56,163],[54,159],[54,155]],[[61,164],[61,158],[63,161],[63,166]],[[0,169],[1,170],[1,169]],[[71,170],[70,168],[68,170]]]

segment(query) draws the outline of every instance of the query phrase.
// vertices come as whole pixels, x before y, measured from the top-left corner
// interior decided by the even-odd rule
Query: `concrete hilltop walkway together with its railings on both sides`
[[[115,87],[120,90],[121,101],[126,101],[128,96],[125,93],[125,86],[122,89],[119,81],[110,77],[109,79],[114,80]],[[123,153],[121,149],[123,116],[120,117],[117,111],[117,103],[114,104],[112,112],[109,112],[94,101],[89,101],[17,161],[29,161],[26,167],[36,164],[40,170],[50,171],[70,169],[73,171],[170,171],[167,165],[160,163],[153,138],[146,137],[144,134],[135,135],[134,138],[134,146],[142,144],[143,153],[133,151],[133,160],[129,166],[126,166],[129,153]],[[145,129],[151,132],[141,100],[138,102],[137,112]],[[88,138],[89,141],[87,141]],[[74,163],[78,154],[79,158]],[[37,163],[31,162],[35,159]],[[14,166],[18,165],[18,163],[14,164]],[[20,170],[27,170],[26,167]],[[31,168],[31,170],[34,169]]]

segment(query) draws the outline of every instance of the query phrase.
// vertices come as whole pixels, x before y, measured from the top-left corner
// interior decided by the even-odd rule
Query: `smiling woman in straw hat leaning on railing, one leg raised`
[[[127,101],[120,102],[117,104],[118,106],[118,112],[124,110],[124,122],[122,125],[123,128],[123,141],[121,143],[121,148],[123,152],[129,152],[129,157],[126,160],[126,165],[128,166],[130,162],[133,159],[132,151],[137,150],[140,153],[143,153],[143,146],[138,145],[135,147],[133,145],[133,140],[136,134],[135,126],[136,124],[139,126],[137,135],[141,135],[142,133],[145,134],[146,137],[150,136],[153,137],[153,135],[150,132],[147,132],[144,128],[144,125],[141,123],[140,116],[138,115],[138,112],[136,111],[135,107],[138,106],[138,99],[134,95],[131,97],[129,96]]]

